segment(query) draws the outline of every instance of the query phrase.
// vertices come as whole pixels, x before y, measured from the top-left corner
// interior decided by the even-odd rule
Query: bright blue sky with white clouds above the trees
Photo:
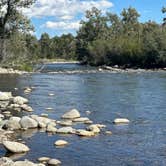
[[[161,9],[166,6],[166,0],[37,0],[35,4],[23,12],[35,27],[34,35],[40,38],[46,32],[53,36],[72,33],[80,27],[86,10],[93,6],[103,13],[120,14],[123,8],[134,7],[141,15],[140,21],[153,20],[162,22]]]

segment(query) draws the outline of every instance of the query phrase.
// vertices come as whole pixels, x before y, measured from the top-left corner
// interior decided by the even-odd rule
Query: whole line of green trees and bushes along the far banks
[[[166,67],[166,18],[161,24],[139,22],[136,9],[123,9],[120,15],[103,14],[93,7],[86,11],[77,35],[37,39],[30,20],[19,8],[28,8],[34,0],[1,0],[0,62],[27,69],[40,59],[79,60],[88,65],[118,65],[122,68]],[[6,10],[4,11],[4,6]],[[166,13],[163,7],[162,13]]]

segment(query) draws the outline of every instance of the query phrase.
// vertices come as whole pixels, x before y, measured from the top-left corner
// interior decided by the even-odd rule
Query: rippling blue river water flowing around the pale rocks
[[[35,90],[25,95],[25,86]],[[35,114],[47,113],[56,120],[77,108],[82,116],[107,125],[106,130],[113,133],[80,138],[28,130],[17,134],[31,149],[20,160],[48,156],[60,159],[62,166],[166,165],[166,72],[109,73],[76,64],[50,64],[39,74],[0,75],[0,90],[27,97]],[[48,107],[53,111],[47,111]],[[119,117],[131,123],[114,125],[112,121]],[[70,144],[56,148],[57,139]],[[5,155],[18,157],[0,146],[0,156]]]

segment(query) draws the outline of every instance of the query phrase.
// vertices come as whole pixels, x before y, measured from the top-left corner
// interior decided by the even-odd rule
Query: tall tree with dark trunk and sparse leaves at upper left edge
[[[3,58],[4,40],[14,32],[27,32],[32,30],[30,21],[21,10],[30,7],[35,0],[1,0],[0,1],[0,60]]]

